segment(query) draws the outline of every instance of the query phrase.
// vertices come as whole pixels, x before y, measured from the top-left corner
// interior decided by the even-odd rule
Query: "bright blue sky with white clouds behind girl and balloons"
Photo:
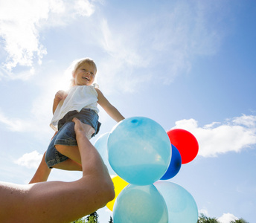
[[[196,136],[199,154],[170,181],[199,212],[255,222],[255,19],[253,0],[0,0],[0,180],[28,184],[54,134],[54,94],[89,56],[125,117]],[[92,142],[115,125],[102,109],[100,122]],[[80,176],[54,169],[49,180]]]

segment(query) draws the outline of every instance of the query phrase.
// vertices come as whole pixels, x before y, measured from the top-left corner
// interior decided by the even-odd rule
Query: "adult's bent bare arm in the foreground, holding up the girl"
[[[71,222],[93,213],[115,197],[114,187],[100,155],[74,119],[82,158],[78,181],[38,184],[0,184],[2,222]]]

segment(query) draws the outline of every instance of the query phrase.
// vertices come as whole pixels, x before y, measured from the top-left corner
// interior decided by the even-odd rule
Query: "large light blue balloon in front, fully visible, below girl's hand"
[[[122,120],[110,132],[107,146],[109,164],[129,184],[153,184],[170,164],[170,139],[147,117]]]

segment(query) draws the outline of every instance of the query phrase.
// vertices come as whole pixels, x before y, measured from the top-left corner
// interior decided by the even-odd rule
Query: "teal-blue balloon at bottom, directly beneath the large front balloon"
[[[114,223],[167,223],[167,206],[153,184],[129,184],[115,200],[113,220]]]

